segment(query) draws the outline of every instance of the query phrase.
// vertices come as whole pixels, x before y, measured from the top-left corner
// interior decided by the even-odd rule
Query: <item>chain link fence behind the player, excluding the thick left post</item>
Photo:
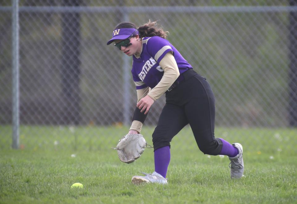
[[[169,31],[168,40],[211,84],[217,137],[228,134],[226,128],[266,128],[279,139],[282,128],[287,144],[295,146],[297,140],[288,138],[295,138],[297,124],[295,5],[276,0],[19,1],[20,145],[67,144],[75,135],[75,146],[92,146],[98,137],[113,146],[127,133],[137,100],[131,58],[106,42],[118,23],[140,26],[150,19]],[[0,1],[1,148],[11,146],[12,137],[12,20],[11,3]],[[145,121],[147,139],[164,103],[162,96]],[[249,133],[242,137],[261,141],[261,135],[250,138]],[[80,138],[89,139],[77,142]]]

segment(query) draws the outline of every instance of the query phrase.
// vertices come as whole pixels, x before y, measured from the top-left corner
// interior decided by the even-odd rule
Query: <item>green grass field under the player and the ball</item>
[[[142,133],[151,144],[153,127]],[[13,150],[0,127],[0,203],[297,203],[297,130],[217,128],[243,145],[244,177],[230,179],[229,159],[200,152],[184,128],[171,143],[168,185],[131,184],[154,171],[153,149],[131,164],[111,147],[127,127],[22,126]],[[72,156],[71,156],[72,155]],[[83,189],[71,189],[80,182]]]

